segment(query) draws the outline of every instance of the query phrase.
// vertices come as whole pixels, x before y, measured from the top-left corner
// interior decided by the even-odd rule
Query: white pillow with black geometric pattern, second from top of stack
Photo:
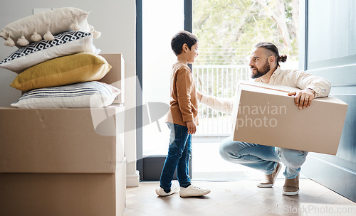
[[[21,73],[23,70],[46,60],[83,52],[98,54],[93,45],[93,34],[83,31],[68,31],[57,34],[53,41],[41,40],[19,48],[2,60],[0,67]]]

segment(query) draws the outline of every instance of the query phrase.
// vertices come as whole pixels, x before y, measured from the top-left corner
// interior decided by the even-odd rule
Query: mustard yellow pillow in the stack
[[[111,65],[100,55],[93,53],[66,55],[28,68],[17,75],[10,86],[28,91],[76,82],[97,81],[110,69]]]

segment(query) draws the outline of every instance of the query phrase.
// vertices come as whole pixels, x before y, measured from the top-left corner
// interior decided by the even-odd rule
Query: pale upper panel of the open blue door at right
[[[314,0],[308,4],[309,8],[323,11],[308,13],[308,69],[355,63],[356,1],[340,4],[333,0],[324,4],[323,0]]]

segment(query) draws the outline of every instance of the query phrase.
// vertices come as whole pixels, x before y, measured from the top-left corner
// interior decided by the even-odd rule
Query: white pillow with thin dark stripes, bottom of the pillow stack
[[[18,108],[100,108],[108,107],[120,90],[104,82],[80,82],[26,92],[12,107]]]

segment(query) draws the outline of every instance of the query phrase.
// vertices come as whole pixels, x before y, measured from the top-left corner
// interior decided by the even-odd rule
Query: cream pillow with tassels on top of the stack
[[[88,14],[88,12],[71,7],[36,13],[9,23],[1,30],[0,37],[5,40],[8,40],[10,37],[11,39],[9,40],[16,43],[12,45],[16,45],[20,48],[23,45],[19,45],[19,38],[24,36],[24,39],[32,43],[34,41],[31,39],[31,36],[33,36],[35,32],[42,38],[48,31],[50,31],[52,35],[70,30],[92,31],[93,33],[93,26],[90,26],[87,22]],[[10,45],[9,43],[5,44]]]

